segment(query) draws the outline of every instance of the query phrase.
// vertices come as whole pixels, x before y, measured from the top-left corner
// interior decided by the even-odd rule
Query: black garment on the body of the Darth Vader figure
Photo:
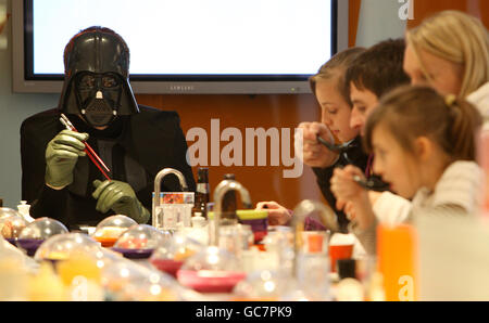
[[[88,127],[77,116],[67,117],[79,132],[90,134],[88,143],[105,164],[110,164],[111,178],[129,183],[151,212],[154,177],[160,170],[167,167],[179,170],[189,191],[195,192],[196,182],[186,160],[187,142],[178,114],[143,105],[139,105],[139,111],[118,117],[103,131]],[[96,210],[92,181],[105,178],[88,157],[78,158],[71,185],[55,191],[45,184],[47,144],[64,129],[60,114],[58,108],[46,111],[28,117],[21,126],[22,198],[32,205],[34,218],[53,218],[71,230],[79,224],[96,225],[113,211],[101,214]],[[165,177],[161,191],[181,191],[176,177]]]

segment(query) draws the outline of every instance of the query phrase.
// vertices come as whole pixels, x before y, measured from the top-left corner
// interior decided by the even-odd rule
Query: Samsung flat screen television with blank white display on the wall
[[[13,91],[59,93],[63,50],[89,26],[130,50],[136,93],[309,93],[348,43],[341,0],[15,0]]]

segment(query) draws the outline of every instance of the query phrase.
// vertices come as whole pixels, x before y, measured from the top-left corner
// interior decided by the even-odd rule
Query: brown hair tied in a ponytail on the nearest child
[[[435,141],[453,160],[475,160],[475,131],[481,125],[477,108],[454,95],[443,98],[428,87],[400,87],[386,94],[365,125],[364,146],[373,151],[372,133],[379,125],[408,151],[417,137]]]

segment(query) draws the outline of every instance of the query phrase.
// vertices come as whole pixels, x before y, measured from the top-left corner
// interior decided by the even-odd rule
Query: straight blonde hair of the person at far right
[[[462,88],[465,98],[489,81],[489,35],[482,23],[460,11],[442,11],[406,33],[425,77],[431,81],[419,50],[464,67]]]

